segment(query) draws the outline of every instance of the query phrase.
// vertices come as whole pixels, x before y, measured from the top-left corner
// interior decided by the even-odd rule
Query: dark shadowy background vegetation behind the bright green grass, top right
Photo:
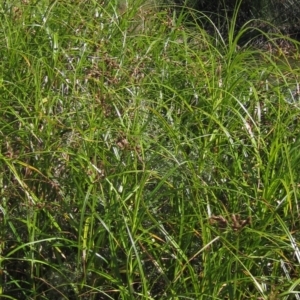
[[[174,0],[179,5],[185,5],[204,12],[218,24],[219,30],[226,32],[226,21],[234,15],[239,7],[238,18],[235,21],[237,29],[246,22],[256,19],[255,28],[267,32],[280,32],[300,39],[300,2],[297,0]],[[276,27],[274,28],[275,25]],[[209,22],[205,26],[209,27]],[[252,37],[257,35],[252,30]]]

